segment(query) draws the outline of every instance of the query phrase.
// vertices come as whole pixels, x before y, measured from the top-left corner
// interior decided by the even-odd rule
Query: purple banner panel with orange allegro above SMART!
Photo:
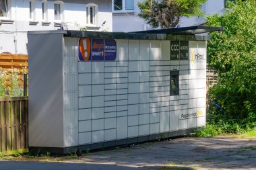
[[[104,39],[92,39],[92,60],[104,60]]]

